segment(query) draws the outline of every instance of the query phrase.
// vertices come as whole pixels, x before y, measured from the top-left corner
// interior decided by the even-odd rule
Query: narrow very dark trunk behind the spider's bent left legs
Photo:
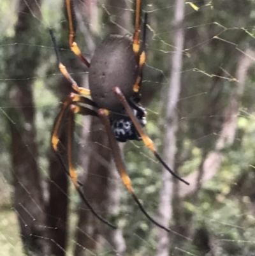
[[[63,3],[62,9],[66,8],[65,3]],[[64,11],[63,11],[64,13]],[[69,49],[68,44],[68,26],[64,24],[61,31],[61,39],[57,42],[59,49]],[[52,54],[54,51],[52,50]],[[80,71],[84,72],[84,64],[73,54],[73,52],[60,52],[60,57],[64,61],[64,65],[68,68],[68,71],[72,73],[72,70],[79,73]],[[57,66],[57,65],[56,65]],[[75,76],[75,81],[80,86],[82,84],[82,77]],[[72,88],[70,82],[63,75],[55,82],[55,86],[59,94],[60,101],[63,102],[71,93]],[[60,108],[61,106],[59,106]],[[59,111],[59,109],[57,110]],[[57,115],[57,112],[56,112]],[[59,133],[60,145],[59,151],[62,155],[62,159],[65,161],[67,159],[67,122],[64,121]],[[75,138],[75,136],[74,136]],[[77,144],[73,144],[73,157],[76,155]],[[76,159],[75,159],[76,160]],[[68,213],[69,213],[69,179],[70,177],[66,174],[62,163],[59,161],[59,158],[53,152],[53,149],[50,149],[49,153],[49,162],[50,162],[50,174],[49,174],[49,200],[48,200],[48,226],[50,229],[50,239],[54,241],[52,243],[52,254],[57,256],[66,255],[66,247],[68,242],[69,227],[68,227]],[[66,167],[67,167],[66,163]],[[73,184],[71,183],[71,187]],[[57,206],[57,207],[56,207]]]

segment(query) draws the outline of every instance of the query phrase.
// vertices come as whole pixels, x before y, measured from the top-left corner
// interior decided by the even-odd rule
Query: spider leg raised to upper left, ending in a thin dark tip
[[[71,83],[72,88],[77,93],[80,93],[82,95],[90,95],[91,91],[89,91],[89,89],[85,89],[83,87],[79,87],[77,82],[75,82],[73,77],[71,77],[71,75],[68,73],[68,70],[66,69],[66,66],[64,66],[61,63],[59,50],[57,49],[57,41],[55,39],[55,36],[54,36],[54,33],[53,33],[52,29],[50,29],[50,37],[52,38],[52,43],[54,45],[55,54],[57,56],[57,63],[59,63],[59,70],[61,71],[61,73],[64,75],[64,77],[66,77],[66,79],[68,79],[68,81]]]

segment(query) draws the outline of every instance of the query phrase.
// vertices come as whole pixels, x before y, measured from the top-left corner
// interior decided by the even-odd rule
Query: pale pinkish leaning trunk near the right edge
[[[209,179],[215,176],[217,170],[221,167],[224,154],[221,152],[226,146],[233,144],[235,139],[235,132],[237,127],[238,110],[240,107],[240,99],[244,93],[245,79],[247,72],[253,63],[252,57],[255,57],[254,52],[251,49],[245,51],[244,56],[240,57],[237,66],[237,86],[230,95],[228,105],[223,112],[224,121],[222,123],[221,132],[219,133],[219,139],[215,144],[215,149],[210,151],[203,161],[204,175],[201,179],[201,183],[205,183]],[[205,171],[206,170],[206,171]],[[196,180],[199,174],[199,170],[193,172],[189,176],[185,177],[186,181],[190,183],[189,186],[180,184],[180,197],[186,197],[196,190]]]

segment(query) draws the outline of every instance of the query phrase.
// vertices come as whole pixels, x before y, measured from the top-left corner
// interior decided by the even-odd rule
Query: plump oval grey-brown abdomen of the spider
[[[128,99],[138,75],[138,64],[128,36],[110,35],[94,52],[89,68],[91,97],[99,108],[119,112],[122,104],[112,89],[118,86]]]

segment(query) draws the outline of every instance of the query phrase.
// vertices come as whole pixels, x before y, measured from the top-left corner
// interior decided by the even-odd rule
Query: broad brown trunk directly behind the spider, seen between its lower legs
[[[84,1],[85,6],[97,7],[94,2],[93,4],[89,4],[89,2]],[[106,12],[109,11],[112,15],[110,19],[113,19],[112,23],[108,23],[109,26],[106,28],[108,30],[107,34],[126,34],[130,20],[129,12],[125,11],[128,10],[126,1],[109,1],[106,6],[110,6]],[[88,10],[88,8],[82,8],[82,5],[80,5],[80,10]],[[91,9],[89,10],[90,13],[97,12]],[[120,10],[122,13],[119,13]],[[80,11],[77,12],[78,17],[80,17],[79,13]],[[91,17],[91,15],[87,15],[87,17]],[[89,20],[89,22],[92,22],[92,20]],[[117,26],[120,22],[122,22],[121,26]],[[82,31],[86,30],[89,31],[89,29],[82,29]],[[85,38],[86,36],[87,34],[84,34]],[[94,47],[89,48],[93,49]],[[112,161],[112,151],[109,150],[110,144],[108,137],[99,119],[92,118],[89,126],[89,121],[87,121],[86,117],[83,123],[84,129],[83,137],[80,141],[82,145],[80,158],[82,168],[87,170],[82,181],[84,184],[84,193],[100,215],[105,215],[106,218],[107,216],[117,215],[120,190],[119,186],[113,184],[116,178],[113,172],[116,172],[116,167]],[[87,138],[88,132],[89,138]],[[102,235],[106,237],[110,250],[123,253],[126,245],[122,236],[122,230],[110,230],[109,232],[109,228],[105,227],[104,223],[98,222],[98,219],[84,208],[85,205],[82,203],[79,210],[75,255],[85,255],[84,248],[92,252],[97,252],[105,244],[101,240]],[[105,230],[108,231],[105,232]]]

